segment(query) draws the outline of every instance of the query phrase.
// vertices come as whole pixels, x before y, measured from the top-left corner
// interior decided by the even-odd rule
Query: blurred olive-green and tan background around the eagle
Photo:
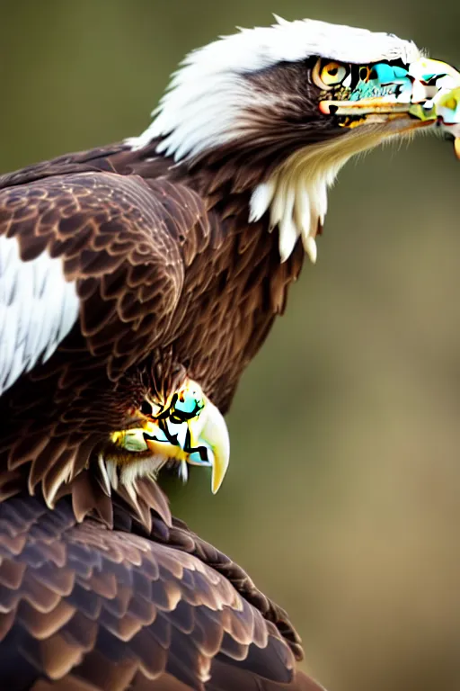
[[[271,12],[460,62],[453,0],[2,0],[2,171],[139,133],[186,51]],[[288,609],[330,691],[460,688],[459,179],[436,138],[349,163],[234,400],[223,488],[168,484]]]

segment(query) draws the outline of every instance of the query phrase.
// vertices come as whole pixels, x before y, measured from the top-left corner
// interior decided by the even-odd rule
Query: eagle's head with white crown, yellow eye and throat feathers
[[[158,154],[191,169],[232,166],[232,191],[251,193],[249,221],[267,214],[279,229],[281,262],[298,238],[315,262],[341,167],[418,130],[456,136],[460,75],[394,34],[276,20],[191,52],[150,127],[128,143],[156,140]]]

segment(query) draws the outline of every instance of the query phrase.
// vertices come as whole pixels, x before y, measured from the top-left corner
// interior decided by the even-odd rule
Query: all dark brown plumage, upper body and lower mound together
[[[286,615],[172,523],[155,483],[110,498],[98,475],[98,447],[146,391],[187,373],[228,408],[302,263],[297,251],[279,264],[266,223],[241,223],[245,197],[199,196],[147,156],[120,145],[0,179],[0,232],[25,262],[61,256],[82,305],[49,361],[0,398],[0,688],[319,691],[295,672]],[[51,510],[40,497],[69,467]]]

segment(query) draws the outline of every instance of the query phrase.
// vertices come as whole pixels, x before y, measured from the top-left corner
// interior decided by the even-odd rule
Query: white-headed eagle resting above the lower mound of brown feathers
[[[139,137],[0,177],[0,498],[111,525],[222,417],[359,151],[458,128],[460,76],[393,34],[278,22],[185,58]],[[452,103],[455,102],[455,103]],[[455,132],[454,132],[455,134]]]

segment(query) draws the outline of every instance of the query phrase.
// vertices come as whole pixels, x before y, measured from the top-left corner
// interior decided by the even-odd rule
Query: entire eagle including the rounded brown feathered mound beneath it
[[[137,137],[0,176],[0,685],[320,689],[288,616],[157,484],[224,416],[350,157],[460,135],[460,75],[301,20],[190,53]]]

